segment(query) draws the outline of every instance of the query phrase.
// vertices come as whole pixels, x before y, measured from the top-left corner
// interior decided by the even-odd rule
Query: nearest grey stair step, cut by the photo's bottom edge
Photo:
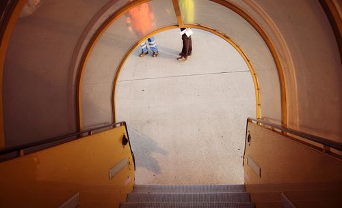
[[[255,208],[254,203],[121,203],[120,208]]]

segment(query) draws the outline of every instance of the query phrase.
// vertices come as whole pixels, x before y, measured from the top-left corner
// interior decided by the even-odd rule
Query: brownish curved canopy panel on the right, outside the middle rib
[[[288,126],[342,141],[341,59],[319,1],[232,1],[271,38],[284,68]]]

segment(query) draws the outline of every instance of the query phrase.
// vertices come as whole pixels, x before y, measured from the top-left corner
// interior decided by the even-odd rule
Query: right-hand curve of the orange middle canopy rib
[[[261,38],[267,45],[267,48],[269,49],[269,52],[272,54],[272,57],[274,59],[274,63],[276,64],[276,69],[278,72],[278,78],[279,78],[279,84],[280,84],[281,124],[282,126],[286,127],[287,126],[287,101],[286,101],[287,97],[286,97],[285,78],[284,78],[282,63],[279,59],[277,50],[274,47],[274,44],[272,43],[272,40],[267,36],[265,31],[263,31],[261,26],[252,17],[250,17],[246,12],[238,8],[233,3],[224,1],[224,0],[209,0],[209,1],[213,1],[215,3],[218,3],[234,11],[239,16],[244,18],[259,33],[259,35],[261,35]]]

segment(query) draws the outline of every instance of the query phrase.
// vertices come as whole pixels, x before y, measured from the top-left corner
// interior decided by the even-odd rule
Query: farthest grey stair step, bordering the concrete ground
[[[245,185],[134,185],[138,193],[246,192]]]

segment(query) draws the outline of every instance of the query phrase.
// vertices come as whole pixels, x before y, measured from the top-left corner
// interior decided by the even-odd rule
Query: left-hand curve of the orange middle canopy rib
[[[79,72],[77,76],[77,110],[78,110],[78,115],[79,121],[77,123],[79,124],[79,130],[83,129],[83,114],[82,114],[82,98],[81,98],[81,91],[82,91],[82,80],[83,80],[83,75],[84,71],[86,68],[86,63],[88,62],[88,59],[90,57],[90,54],[92,53],[92,50],[94,46],[96,45],[96,42],[98,39],[101,37],[101,35],[107,30],[107,28],[113,23],[115,20],[117,20],[122,14],[125,12],[129,11],[131,8],[134,8],[136,5],[139,5],[140,3],[145,3],[150,0],[137,0],[137,1],[132,1],[129,4],[124,5],[122,8],[114,12],[109,18],[105,20],[105,22],[98,27],[92,38],[87,44],[86,49],[83,51],[83,56],[81,58],[80,64],[79,64]],[[113,120],[114,121],[114,120]]]

